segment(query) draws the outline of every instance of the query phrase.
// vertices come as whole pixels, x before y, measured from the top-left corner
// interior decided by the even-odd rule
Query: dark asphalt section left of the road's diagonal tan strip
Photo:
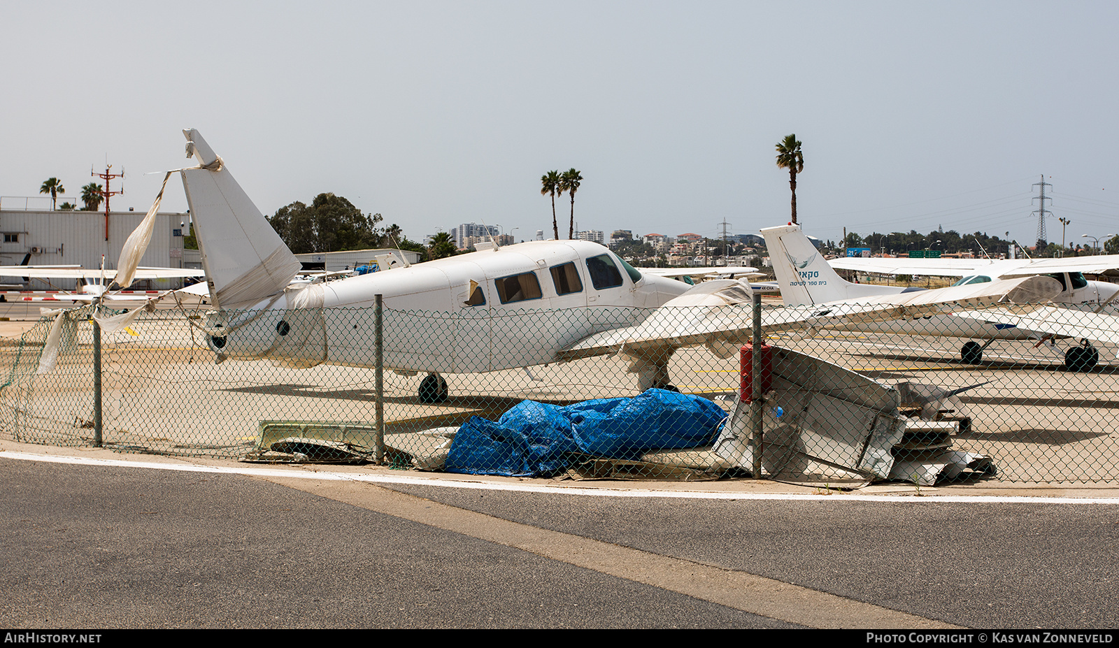
[[[792,627],[260,479],[0,475],[9,627]]]

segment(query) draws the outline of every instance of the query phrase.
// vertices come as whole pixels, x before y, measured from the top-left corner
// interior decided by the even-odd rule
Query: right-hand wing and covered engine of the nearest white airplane
[[[924,317],[1007,302],[1036,304],[1049,301],[1060,291],[1054,279],[1027,276],[881,294],[857,301],[770,308],[762,311],[761,320],[767,332],[775,332],[816,325]],[[753,308],[749,300],[749,289],[741,282],[706,282],[660,307],[643,322],[589,336],[560,351],[556,359],[574,360],[619,351],[631,356],[653,355],[699,345],[721,357],[728,357],[753,335]]]

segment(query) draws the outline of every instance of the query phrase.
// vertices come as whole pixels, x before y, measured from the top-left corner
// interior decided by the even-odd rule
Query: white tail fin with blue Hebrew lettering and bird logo
[[[786,306],[824,303],[874,294],[901,292],[900,288],[863,285],[844,281],[801,232],[800,225],[762,229],[765,247]]]

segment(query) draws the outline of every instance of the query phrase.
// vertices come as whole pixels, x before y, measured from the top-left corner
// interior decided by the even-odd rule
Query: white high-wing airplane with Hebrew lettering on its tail
[[[1119,295],[1119,285],[1088,281],[1081,274],[1119,269],[1119,256],[1110,260],[1076,257],[1035,261],[836,259],[828,262],[799,225],[769,227],[762,229],[762,235],[781,288],[782,301],[788,306],[924,291],[921,288],[850,283],[844,281],[834,267],[885,274],[962,276],[955,287],[1023,276],[1049,276],[1060,283],[1060,292],[1052,300],[1059,307],[1040,307],[1021,312],[988,309],[829,328],[987,340],[982,345],[969,340],[962,346],[960,359],[968,364],[982,361],[982,350],[995,340],[1080,338],[1082,344],[1070,347],[1064,356],[1065,367],[1075,370],[1091,369],[1099,361],[1099,351],[1088,340],[1119,344],[1119,318],[1098,314]]]

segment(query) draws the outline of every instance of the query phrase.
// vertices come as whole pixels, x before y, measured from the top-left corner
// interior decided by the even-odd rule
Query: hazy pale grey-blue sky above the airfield
[[[414,241],[579,229],[1119,233],[1115,2],[6,2],[0,205],[124,169],[147,210],[197,128],[271,215],[330,191]],[[101,180],[97,180],[101,182]],[[114,181],[113,188],[117,188]],[[60,203],[62,200],[59,200]],[[47,205],[40,197],[32,206]],[[562,237],[571,203],[557,198]],[[181,184],[163,210],[186,210]]]

